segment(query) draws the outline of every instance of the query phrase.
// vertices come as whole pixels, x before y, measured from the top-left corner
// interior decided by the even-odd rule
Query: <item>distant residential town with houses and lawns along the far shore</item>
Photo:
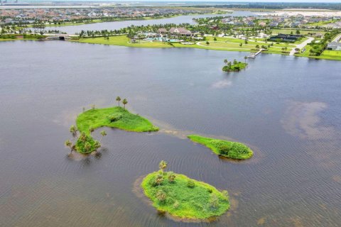
[[[281,55],[341,60],[341,12],[330,9],[231,9],[219,6],[139,6],[90,4],[26,7],[14,2],[0,10],[1,39],[63,38],[85,43],[134,47],[190,47],[211,50],[268,52]],[[5,5],[6,6],[6,5]],[[40,5],[41,6],[41,5]],[[266,9],[267,6],[269,9]],[[320,5],[330,7],[329,5]],[[338,4],[333,5],[337,7]],[[279,6],[278,6],[279,7]],[[235,11],[249,10],[245,16]],[[195,18],[195,15],[207,15]],[[249,14],[249,15],[248,15]],[[194,23],[155,24],[153,19],[193,15]],[[208,16],[210,15],[210,16]],[[80,31],[65,35],[63,29],[109,21],[151,20],[148,26],[115,30]],[[60,31],[61,30],[61,31]],[[60,36],[64,34],[63,36]],[[125,35],[123,38],[121,35]],[[126,40],[125,40],[126,39]],[[109,43],[108,43],[109,42]]]

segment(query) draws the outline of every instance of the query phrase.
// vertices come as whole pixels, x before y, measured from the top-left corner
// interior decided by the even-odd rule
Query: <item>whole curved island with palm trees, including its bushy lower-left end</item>
[[[65,145],[78,153],[88,154],[101,147],[101,141],[94,140],[91,133],[96,128],[110,127],[119,128],[125,131],[133,132],[151,132],[158,131],[158,127],[148,121],[148,119],[139,116],[139,114],[131,114],[126,110],[128,101],[123,99],[123,107],[119,106],[121,98],[118,96],[118,106],[97,109],[92,106],[92,109],[85,111],[77,116],[76,125],[70,127],[70,133],[76,138],[75,144],[70,140],[65,141]],[[80,135],[78,136],[78,132]],[[107,135],[106,131],[101,131],[102,138]],[[102,140],[101,138],[101,140]]]

